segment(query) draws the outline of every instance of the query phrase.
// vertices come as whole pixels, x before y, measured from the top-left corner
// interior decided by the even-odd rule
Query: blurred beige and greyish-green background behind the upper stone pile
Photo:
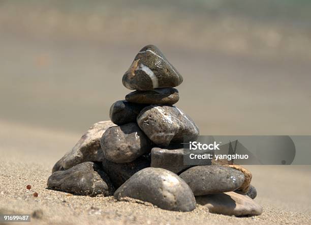
[[[202,135],[311,134],[307,0],[0,0],[0,121],[82,134],[147,44]]]

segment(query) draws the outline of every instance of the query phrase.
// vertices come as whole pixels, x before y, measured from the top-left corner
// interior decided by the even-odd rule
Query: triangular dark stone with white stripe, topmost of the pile
[[[180,85],[182,76],[154,45],[143,47],[123,75],[122,83],[128,89],[147,91]]]

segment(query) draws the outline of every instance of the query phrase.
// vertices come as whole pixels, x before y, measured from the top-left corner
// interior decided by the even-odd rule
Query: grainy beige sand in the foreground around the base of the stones
[[[258,190],[256,201],[264,211],[244,218],[211,214],[202,206],[193,212],[170,212],[148,204],[116,202],[112,197],[46,189],[54,162],[80,135],[0,121],[0,212],[41,211],[41,216],[32,217],[34,224],[311,223],[310,166],[248,166]],[[32,185],[30,191],[27,184]]]

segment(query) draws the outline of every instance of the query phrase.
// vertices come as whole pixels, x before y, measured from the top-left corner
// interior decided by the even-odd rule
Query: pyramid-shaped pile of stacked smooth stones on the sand
[[[136,90],[116,101],[111,121],[92,125],[53,167],[47,186],[77,195],[135,199],[162,209],[192,211],[197,204],[211,213],[260,215],[253,201],[252,174],[240,165],[183,164],[183,137],[196,140],[194,121],[173,104],[182,76],[162,52],[147,45],[123,75]]]

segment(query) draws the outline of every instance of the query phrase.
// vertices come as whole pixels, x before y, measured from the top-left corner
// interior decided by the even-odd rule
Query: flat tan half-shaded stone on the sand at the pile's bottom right
[[[196,196],[196,201],[211,213],[230,216],[254,216],[262,213],[262,207],[258,203],[247,195],[235,192]]]

